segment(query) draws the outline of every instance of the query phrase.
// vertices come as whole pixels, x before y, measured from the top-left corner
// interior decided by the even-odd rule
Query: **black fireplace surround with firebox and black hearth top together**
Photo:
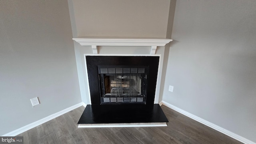
[[[168,122],[154,104],[159,56],[86,56],[91,105],[78,124]]]

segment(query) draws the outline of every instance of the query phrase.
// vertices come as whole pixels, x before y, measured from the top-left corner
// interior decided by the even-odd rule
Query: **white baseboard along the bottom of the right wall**
[[[202,118],[199,118],[198,116],[195,116],[194,114],[190,114],[189,112],[186,112],[185,110],[182,110],[172,104],[169,104],[167,102],[161,101],[159,104],[163,104],[164,106],[167,106],[168,108],[171,108],[185,116],[188,116],[189,118],[192,118],[193,120],[196,120],[206,126],[209,126],[210,128],[213,128],[214,130],[218,130],[219,132],[226,134],[227,136],[230,136],[231,138],[234,138],[244,144],[256,144],[255,142],[252,142],[251,140],[248,140],[242,136],[239,136],[238,134],[235,134],[233,132],[230,132],[229,130],[226,130],[220,126],[217,126],[216,124],[213,124],[211,122],[208,122],[207,120],[204,120]]]

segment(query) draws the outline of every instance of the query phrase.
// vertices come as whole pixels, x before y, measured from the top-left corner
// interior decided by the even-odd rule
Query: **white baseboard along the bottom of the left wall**
[[[28,124],[28,125],[26,125],[26,126],[23,126],[23,127],[19,128],[19,129],[17,129],[17,130],[14,130],[14,131],[12,131],[12,132],[9,132],[9,133],[7,133],[7,134],[4,134],[4,135],[2,135],[2,136],[17,136],[18,134],[21,134],[22,132],[26,132],[27,130],[30,130],[31,128],[34,128],[34,127],[36,127],[36,126],[39,126],[40,124],[43,124],[43,123],[45,123],[45,122],[48,122],[49,120],[52,120],[52,119],[54,119],[54,118],[57,118],[58,116],[61,116],[62,114],[65,114],[65,113],[67,113],[67,112],[69,112],[69,111],[71,111],[71,110],[74,110],[74,109],[76,109],[76,108],[78,108],[78,107],[80,107],[80,106],[83,106],[83,103],[82,103],[82,102],[80,102],[79,104],[76,104],[76,105],[74,105],[74,106],[70,106],[69,108],[66,108],[66,109],[64,109],[64,110],[62,110],[62,111],[60,111],[60,112],[56,112],[55,114],[52,114],[52,115],[47,116],[47,117],[45,117],[45,118],[42,118],[41,120],[38,120],[38,121],[36,121],[36,122],[33,122],[33,123]]]

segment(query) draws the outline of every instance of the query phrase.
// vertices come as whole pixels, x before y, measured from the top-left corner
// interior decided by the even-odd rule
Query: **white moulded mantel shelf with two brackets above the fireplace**
[[[165,46],[168,38],[73,38],[81,46],[92,46],[93,54],[98,54],[98,46],[151,46],[150,54],[156,53],[158,46]]]

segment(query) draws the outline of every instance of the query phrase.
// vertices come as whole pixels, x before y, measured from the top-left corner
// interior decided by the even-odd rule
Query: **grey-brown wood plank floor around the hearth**
[[[32,128],[24,144],[242,144],[208,126],[161,106],[168,126],[135,128],[77,128],[81,106]]]

